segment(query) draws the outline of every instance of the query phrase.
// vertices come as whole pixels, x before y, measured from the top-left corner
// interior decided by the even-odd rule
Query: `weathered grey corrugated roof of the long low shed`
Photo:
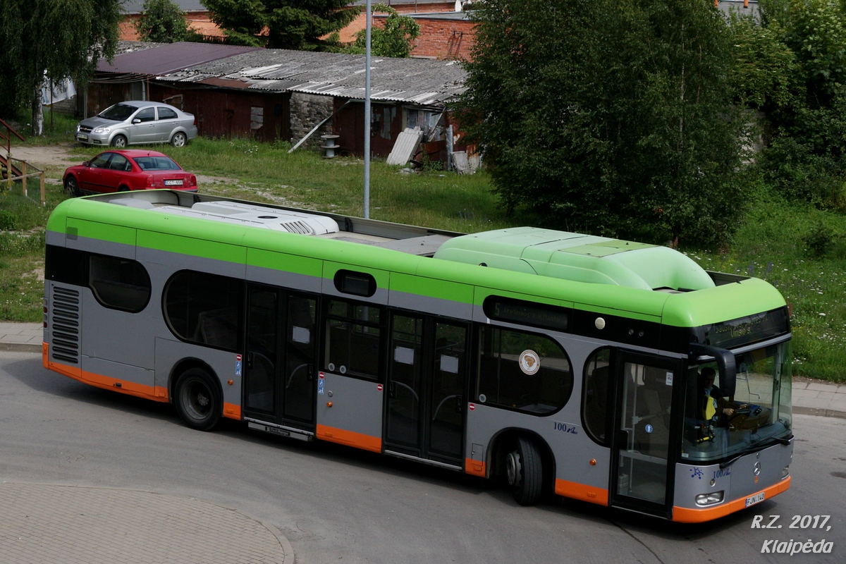
[[[464,92],[457,61],[371,57],[371,99],[443,106]],[[233,79],[253,90],[294,91],[363,100],[365,56],[264,49],[162,73],[157,80],[204,82]]]

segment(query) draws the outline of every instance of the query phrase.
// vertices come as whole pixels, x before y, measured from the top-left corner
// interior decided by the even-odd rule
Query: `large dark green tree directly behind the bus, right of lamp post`
[[[475,3],[460,127],[507,211],[570,231],[719,244],[743,208],[743,120],[703,0]]]

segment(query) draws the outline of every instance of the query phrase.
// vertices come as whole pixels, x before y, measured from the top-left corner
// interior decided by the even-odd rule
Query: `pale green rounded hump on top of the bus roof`
[[[441,245],[435,258],[644,290],[715,286],[694,260],[668,247],[537,227],[452,238]]]

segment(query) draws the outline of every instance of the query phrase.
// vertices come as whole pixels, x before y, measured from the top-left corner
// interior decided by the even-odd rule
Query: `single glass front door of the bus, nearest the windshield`
[[[613,433],[610,505],[670,517],[673,509],[673,390],[681,364],[621,352]]]

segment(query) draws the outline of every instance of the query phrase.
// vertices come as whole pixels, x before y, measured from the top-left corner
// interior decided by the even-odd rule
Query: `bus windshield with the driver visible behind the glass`
[[[683,460],[717,461],[785,439],[792,425],[787,343],[735,355],[737,387],[720,390],[717,364],[691,366],[684,397]]]

